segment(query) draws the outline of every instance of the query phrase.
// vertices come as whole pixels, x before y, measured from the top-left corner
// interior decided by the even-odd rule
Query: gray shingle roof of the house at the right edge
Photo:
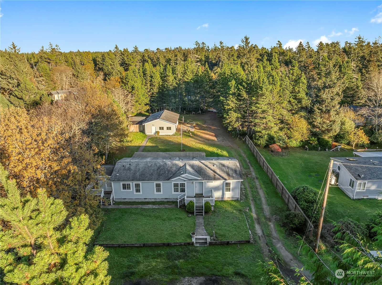
[[[357,180],[382,180],[382,157],[331,157],[331,159],[333,162],[342,163]]]

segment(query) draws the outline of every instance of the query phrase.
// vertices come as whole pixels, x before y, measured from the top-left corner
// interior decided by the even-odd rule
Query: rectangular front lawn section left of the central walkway
[[[195,216],[188,217],[178,208],[112,208],[103,209],[96,243],[191,242]]]

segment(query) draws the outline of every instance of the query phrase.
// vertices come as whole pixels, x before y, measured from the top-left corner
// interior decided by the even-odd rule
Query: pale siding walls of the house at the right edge
[[[340,164],[341,171],[338,178],[338,186],[340,189],[348,195],[351,199],[361,199],[361,198],[376,198],[382,199],[382,190],[373,190],[373,189],[382,189],[382,180],[357,180],[355,179],[346,168]],[[354,180],[354,188],[349,187],[350,178]],[[357,184],[359,182],[366,181],[366,190],[365,191],[356,191]]]

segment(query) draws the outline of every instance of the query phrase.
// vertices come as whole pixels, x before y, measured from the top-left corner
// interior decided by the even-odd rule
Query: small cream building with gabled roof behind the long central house
[[[143,122],[144,133],[155,134],[156,131],[159,131],[159,134],[174,134],[178,126],[178,119],[179,114],[168,110],[151,114]]]

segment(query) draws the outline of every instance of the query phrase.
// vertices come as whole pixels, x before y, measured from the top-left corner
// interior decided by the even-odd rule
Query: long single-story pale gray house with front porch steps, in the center
[[[233,157],[205,157],[199,152],[134,155],[104,166],[110,176],[105,184],[111,183],[115,201],[178,201],[178,207],[194,201],[197,214],[206,201],[213,206],[215,200],[240,199],[243,177]]]

